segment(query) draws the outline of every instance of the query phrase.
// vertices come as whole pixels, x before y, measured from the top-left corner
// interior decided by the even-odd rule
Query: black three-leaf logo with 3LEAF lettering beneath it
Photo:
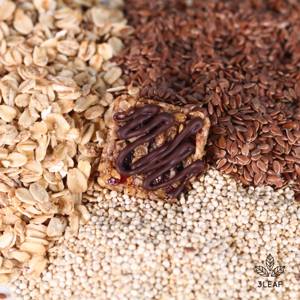
[[[285,265],[283,265],[283,266],[279,265],[278,267],[273,268],[274,267],[274,257],[271,254],[269,254],[267,256],[267,259],[265,260],[265,265],[268,270],[261,265],[255,266],[255,271],[260,276],[276,277],[276,276],[281,275],[284,272]],[[271,272],[271,275],[269,275],[268,271]],[[273,283],[272,283],[272,281],[267,281],[266,283],[265,283],[265,281],[259,281],[258,283],[259,283],[258,287],[279,287],[280,285],[282,285],[282,281],[278,281],[278,282],[274,281]]]

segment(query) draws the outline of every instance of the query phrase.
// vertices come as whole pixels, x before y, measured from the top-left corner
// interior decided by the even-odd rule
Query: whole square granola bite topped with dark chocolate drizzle
[[[98,183],[140,198],[175,202],[201,173],[210,122],[200,112],[130,95],[113,106]]]

